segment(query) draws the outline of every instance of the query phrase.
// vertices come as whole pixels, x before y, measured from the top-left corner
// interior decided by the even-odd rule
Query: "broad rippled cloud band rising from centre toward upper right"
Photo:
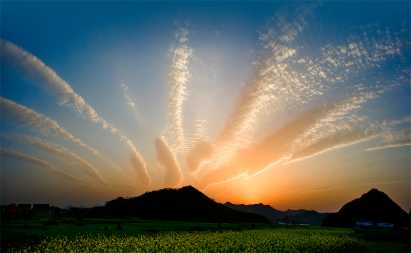
[[[316,6],[317,4],[314,4],[302,8],[294,21],[287,21],[276,14],[273,18],[278,21],[276,24],[279,30],[274,32],[273,29],[268,29],[267,33],[259,31],[259,40],[265,46],[258,55],[258,60],[254,62],[255,75],[244,84],[237,103],[212,144],[212,154],[200,155],[197,146],[187,155],[186,160],[190,161],[189,167],[192,172],[198,171],[200,165],[210,156],[213,157],[212,161],[208,160],[206,163],[212,169],[230,163],[238,149],[253,143],[252,134],[265,124],[264,119],[284,110],[286,103],[301,100],[301,94],[292,93],[295,89],[290,89],[291,82],[298,85],[297,80],[290,80],[290,75],[286,71],[286,60],[295,57],[296,50],[285,43],[294,41],[294,38],[304,30],[307,25],[305,18]],[[308,87],[299,87],[303,88],[311,90]],[[321,95],[321,92],[310,95],[319,94]],[[209,152],[208,149],[207,153]]]

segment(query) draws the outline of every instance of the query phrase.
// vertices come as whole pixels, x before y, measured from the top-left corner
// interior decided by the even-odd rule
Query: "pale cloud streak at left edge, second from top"
[[[91,152],[99,155],[99,152],[87,146],[80,139],[74,138],[66,129],[61,127],[56,121],[46,117],[45,115],[35,112],[23,105],[14,103],[11,100],[0,97],[1,116],[15,121],[21,126],[25,126],[34,131],[39,131],[45,135],[59,136],[64,140],[69,140],[79,145],[86,147]]]

